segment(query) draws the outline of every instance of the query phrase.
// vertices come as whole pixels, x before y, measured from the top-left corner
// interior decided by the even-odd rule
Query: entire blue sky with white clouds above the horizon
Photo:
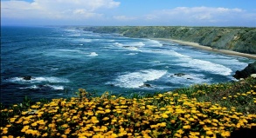
[[[256,27],[256,0],[1,0],[3,25]]]

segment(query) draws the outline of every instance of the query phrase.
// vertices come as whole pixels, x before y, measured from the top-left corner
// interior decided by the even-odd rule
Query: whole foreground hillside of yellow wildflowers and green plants
[[[32,104],[34,103],[34,104]],[[78,96],[1,106],[2,137],[229,137],[256,126],[256,79],[155,95]]]

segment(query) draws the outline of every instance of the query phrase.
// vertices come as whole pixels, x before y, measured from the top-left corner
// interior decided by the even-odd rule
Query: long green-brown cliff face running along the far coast
[[[119,33],[129,37],[170,38],[199,43],[215,49],[256,54],[256,28],[108,26],[83,27],[97,33]]]

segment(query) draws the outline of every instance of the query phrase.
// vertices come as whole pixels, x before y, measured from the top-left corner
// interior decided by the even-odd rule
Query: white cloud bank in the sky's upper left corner
[[[1,1],[1,16],[34,19],[86,19],[102,16],[97,10],[118,7],[114,0]]]

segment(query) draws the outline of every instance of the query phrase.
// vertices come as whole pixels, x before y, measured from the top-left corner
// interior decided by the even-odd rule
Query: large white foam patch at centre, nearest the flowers
[[[166,70],[147,69],[118,76],[113,84],[121,88],[140,88],[144,82],[154,81],[167,73]]]

